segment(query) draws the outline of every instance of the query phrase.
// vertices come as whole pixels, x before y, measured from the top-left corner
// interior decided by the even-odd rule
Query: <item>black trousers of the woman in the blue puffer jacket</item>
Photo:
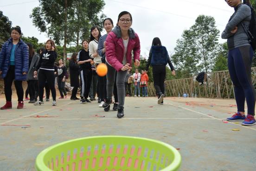
[[[12,101],[12,84],[15,79],[15,66],[10,65],[7,75],[4,78],[6,101]],[[24,91],[22,88],[22,81],[14,80],[15,89],[18,95],[18,101],[23,101]]]

